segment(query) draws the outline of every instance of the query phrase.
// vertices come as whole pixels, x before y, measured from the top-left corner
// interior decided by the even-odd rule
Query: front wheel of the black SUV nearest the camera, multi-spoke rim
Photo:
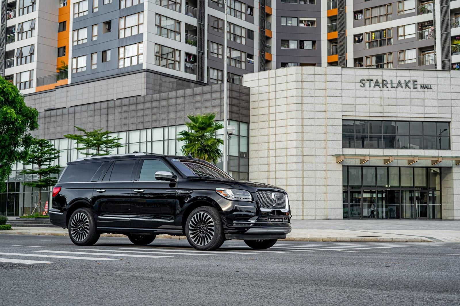
[[[185,223],[185,235],[189,244],[198,250],[219,249],[225,235],[219,212],[208,206],[192,211]]]

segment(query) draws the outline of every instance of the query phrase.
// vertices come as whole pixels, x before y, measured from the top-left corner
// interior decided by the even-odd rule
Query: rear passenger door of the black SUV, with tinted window
[[[92,204],[98,227],[130,227],[131,187],[138,159],[113,160],[95,183]]]

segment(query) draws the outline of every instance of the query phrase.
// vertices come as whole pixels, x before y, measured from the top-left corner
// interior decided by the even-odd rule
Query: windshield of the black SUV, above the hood
[[[198,159],[171,159],[171,162],[184,176],[213,178],[219,180],[233,180],[233,177],[226,174],[213,164]]]

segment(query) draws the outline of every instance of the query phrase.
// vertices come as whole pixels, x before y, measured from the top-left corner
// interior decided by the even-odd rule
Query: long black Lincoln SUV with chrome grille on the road
[[[186,235],[200,250],[229,239],[266,249],[291,232],[284,190],[236,181],[191,157],[135,152],[81,158],[67,163],[52,197],[51,223],[68,228],[77,245],[122,233],[134,244],[169,234]]]

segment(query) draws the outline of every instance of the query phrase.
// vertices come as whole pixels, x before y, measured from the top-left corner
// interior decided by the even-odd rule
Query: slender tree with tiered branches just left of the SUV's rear
[[[60,166],[53,166],[53,161],[59,158],[59,151],[46,139],[34,138],[29,147],[29,154],[24,159],[25,165],[34,165],[32,169],[25,169],[21,174],[38,175],[37,181],[25,181],[23,185],[38,189],[38,213],[41,215],[41,188],[56,185]],[[34,209],[35,210],[35,209]]]

